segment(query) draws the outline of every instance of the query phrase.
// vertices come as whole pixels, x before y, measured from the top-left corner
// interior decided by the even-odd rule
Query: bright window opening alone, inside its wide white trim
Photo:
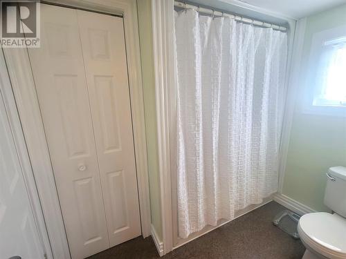
[[[346,37],[325,41],[313,106],[346,106]]]

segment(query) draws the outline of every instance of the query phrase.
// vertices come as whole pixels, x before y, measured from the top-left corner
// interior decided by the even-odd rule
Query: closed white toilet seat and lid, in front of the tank
[[[346,259],[346,218],[334,213],[308,213],[300,218],[302,242],[322,256]]]

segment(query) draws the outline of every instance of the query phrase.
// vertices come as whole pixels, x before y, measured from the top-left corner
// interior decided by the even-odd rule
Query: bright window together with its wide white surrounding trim
[[[346,117],[346,25],[313,33],[302,68],[302,113]]]

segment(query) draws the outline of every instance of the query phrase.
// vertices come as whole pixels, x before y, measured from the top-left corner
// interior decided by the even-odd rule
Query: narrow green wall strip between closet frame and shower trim
[[[152,209],[152,224],[154,225],[156,233],[158,234],[158,238],[162,240],[151,5],[152,2],[150,0],[137,0],[140,58],[142,64],[143,95],[145,106],[145,131],[147,135],[150,206]]]

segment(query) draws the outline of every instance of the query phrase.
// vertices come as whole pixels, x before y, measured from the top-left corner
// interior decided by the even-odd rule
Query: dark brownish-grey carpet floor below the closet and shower
[[[304,246],[272,223],[284,210],[270,202],[163,256],[163,259],[300,259]],[[158,258],[152,238],[134,238],[89,259]]]

